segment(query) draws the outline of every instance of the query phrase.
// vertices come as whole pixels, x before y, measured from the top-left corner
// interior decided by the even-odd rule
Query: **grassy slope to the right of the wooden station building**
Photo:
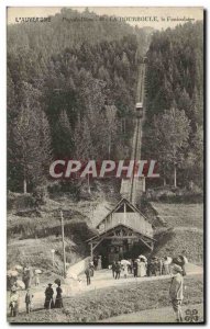
[[[176,257],[183,251],[192,263],[203,262],[203,205],[153,203],[166,227],[156,232],[154,254]]]

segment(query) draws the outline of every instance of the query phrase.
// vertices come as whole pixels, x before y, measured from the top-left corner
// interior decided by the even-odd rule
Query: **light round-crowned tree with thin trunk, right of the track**
[[[177,168],[181,166],[188,146],[190,122],[185,111],[170,109],[154,117],[154,143],[158,161],[174,168],[174,186],[177,186]]]

